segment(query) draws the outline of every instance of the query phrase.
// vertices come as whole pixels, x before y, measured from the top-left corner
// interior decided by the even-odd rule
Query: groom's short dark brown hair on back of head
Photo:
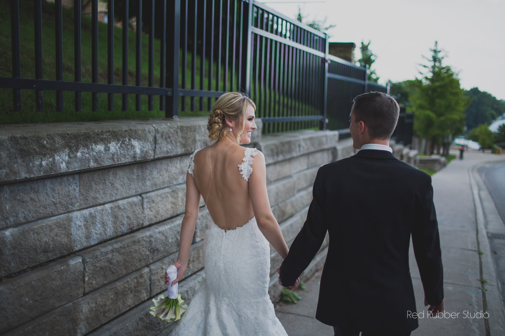
[[[370,139],[388,140],[393,134],[400,106],[387,93],[367,92],[354,98],[355,121],[363,121],[368,127]]]

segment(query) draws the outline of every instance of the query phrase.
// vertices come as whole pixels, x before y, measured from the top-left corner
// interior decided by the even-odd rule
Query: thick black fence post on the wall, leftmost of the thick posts
[[[170,14],[170,16],[169,16]],[[165,118],[174,118],[179,113],[179,42],[181,0],[170,0],[167,4],[167,88],[172,95],[165,99]]]

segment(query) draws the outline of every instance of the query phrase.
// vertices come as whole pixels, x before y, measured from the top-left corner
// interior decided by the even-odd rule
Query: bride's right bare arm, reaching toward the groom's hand
[[[289,250],[284,237],[282,237],[279,223],[270,208],[267,194],[267,169],[265,166],[265,156],[262,152],[258,151],[258,154],[254,157],[254,161],[252,161],[251,167],[249,196],[258,228],[282,259],[285,259]]]

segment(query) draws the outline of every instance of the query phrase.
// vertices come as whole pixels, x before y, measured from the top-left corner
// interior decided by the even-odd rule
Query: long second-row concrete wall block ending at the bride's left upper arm
[[[81,207],[184,183],[189,155],[79,174]]]

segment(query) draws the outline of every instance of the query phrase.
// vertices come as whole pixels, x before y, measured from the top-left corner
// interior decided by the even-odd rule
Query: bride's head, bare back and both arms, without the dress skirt
[[[286,242],[268,200],[265,156],[258,150],[238,145],[239,141],[250,143],[251,133],[257,129],[255,106],[239,92],[227,92],[214,103],[207,129],[209,138],[217,141],[191,155],[186,174],[186,209],[181,223],[179,256],[174,263],[177,278],[172,285],[186,271],[202,196],[219,228],[235,230],[255,217],[255,225],[267,241],[283,259],[287,256]],[[167,277],[165,283],[168,284]]]

